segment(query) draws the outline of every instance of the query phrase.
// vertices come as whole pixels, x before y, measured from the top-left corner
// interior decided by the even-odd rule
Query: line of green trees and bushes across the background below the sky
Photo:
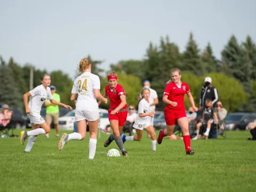
[[[108,71],[99,67],[102,61],[94,60],[90,55],[87,57],[93,63],[92,73],[100,76],[103,94],[107,79],[102,74]],[[29,91],[30,68],[34,68],[34,87],[39,84],[39,77],[49,71],[36,69],[31,64],[22,67],[13,58],[6,62],[0,57],[0,62],[0,104],[9,103],[12,107],[23,109],[22,95]],[[181,80],[189,84],[197,106],[204,77],[210,76],[218,90],[219,100],[229,112],[256,111],[256,45],[250,36],[238,43],[232,35],[223,47],[220,59],[214,57],[210,43],[204,50],[199,50],[192,33],[183,52],[170,41],[169,36],[161,37],[158,45],[149,43],[145,58],[121,60],[111,64],[110,68],[117,72],[118,83],[124,86],[128,104],[138,105],[142,82],[147,79],[158,93],[160,102],[157,109],[163,110],[165,83],[170,79],[170,70],[179,68],[182,71]],[[52,84],[57,87],[62,102],[70,103],[72,79],[61,70],[48,74],[51,75]],[[188,100],[185,100],[185,104],[186,107],[189,106]],[[108,105],[101,107],[107,108]]]

